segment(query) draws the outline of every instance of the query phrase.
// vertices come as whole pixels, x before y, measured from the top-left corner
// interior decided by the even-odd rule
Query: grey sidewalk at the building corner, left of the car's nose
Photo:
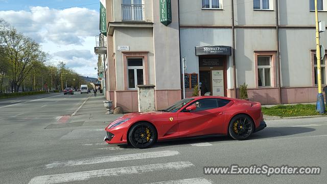
[[[83,126],[103,126],[108,125],[123,114],[106,114],[107,109],[104,107],[104,94],[91,94],[82,107],[69,120],[69,123],[84,122]]]

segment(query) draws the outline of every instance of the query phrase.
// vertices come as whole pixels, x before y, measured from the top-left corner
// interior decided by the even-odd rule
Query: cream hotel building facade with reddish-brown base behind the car
[[[183,88],[185,97],[198,86],[201,95],[235,98],[245,83],[249,100],[262,104],[315,102],[313,2],[107,0],[106,98],[137,111],[137,85],[154,84],[161,109]],[[318,0],[320,20],[324,5]]]

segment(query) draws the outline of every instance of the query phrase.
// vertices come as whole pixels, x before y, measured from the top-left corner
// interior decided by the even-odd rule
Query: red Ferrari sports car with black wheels
[[[245,140],[265,127],[260,103],[204,96],[185,98],[163,110],[128,113],[105,128],[104,141],[148,148],[157,141],[210,134]]]

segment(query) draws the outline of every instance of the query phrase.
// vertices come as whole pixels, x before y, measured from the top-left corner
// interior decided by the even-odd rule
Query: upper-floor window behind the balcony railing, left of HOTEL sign
[[[122,19],[125,21],[144,21],[142,0],[122,0]]]

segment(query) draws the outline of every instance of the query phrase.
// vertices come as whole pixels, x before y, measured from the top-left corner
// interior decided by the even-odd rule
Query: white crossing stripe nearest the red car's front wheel
[[[102,156],[102,157],[95,157],[95,158],[57,161],[45,165],[45,167],[55,168],[55,167],[66,167],[66,166],[79,166],[79,165],[86,165],[86,164],[99,164],[99,163],[118,162],[118,161],[125,161],[125,160],[174,156],[178,154],[179,154],[178,151],[156,151],[156,152],[146,152],[146,153],[125,154],[125,155]]]

